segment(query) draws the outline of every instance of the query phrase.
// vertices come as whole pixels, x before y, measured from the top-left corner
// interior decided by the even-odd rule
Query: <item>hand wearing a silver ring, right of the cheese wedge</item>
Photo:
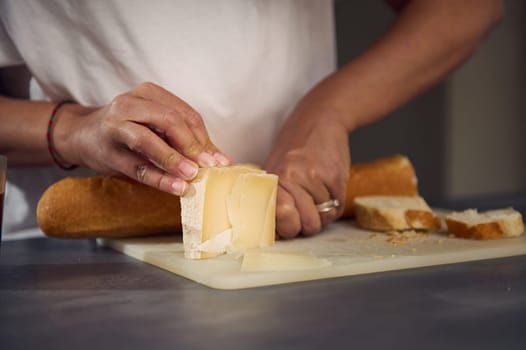
[[[292,238],[312,235],[343,213],[350,168],[347,128],[337,113],[307,96],[281,130],[265,163],[279,176],[276,231]],[[325,213],[317,205],[337,199]]]

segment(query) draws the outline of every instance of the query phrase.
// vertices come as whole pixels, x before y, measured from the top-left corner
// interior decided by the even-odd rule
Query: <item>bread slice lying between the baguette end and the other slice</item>
[[[378,231],[432,230],[440,219],[420,196],[362,196],[354,199],[358,226]]]

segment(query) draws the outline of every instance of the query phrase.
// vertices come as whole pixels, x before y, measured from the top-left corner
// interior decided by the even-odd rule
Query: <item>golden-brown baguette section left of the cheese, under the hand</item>
[[[59,238],[175,233],[181,229],[179,197],[121,177],[65,178],[42,195],[37,222]]]

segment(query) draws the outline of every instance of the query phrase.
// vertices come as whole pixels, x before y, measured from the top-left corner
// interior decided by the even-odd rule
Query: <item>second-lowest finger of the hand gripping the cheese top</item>
[[[135,123],[127,123],[114,130],[114,139],[130,151],[148,159],[160,169],[183,180],[197,176],[198,166],[168,146],[150,129]]]

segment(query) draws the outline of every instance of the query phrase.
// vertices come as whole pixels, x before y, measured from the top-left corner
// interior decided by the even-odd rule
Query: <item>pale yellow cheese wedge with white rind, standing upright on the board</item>
[[[181,197],[185,257],[273,245],[277,184],[276,175],[249,166],[200,169]]]

